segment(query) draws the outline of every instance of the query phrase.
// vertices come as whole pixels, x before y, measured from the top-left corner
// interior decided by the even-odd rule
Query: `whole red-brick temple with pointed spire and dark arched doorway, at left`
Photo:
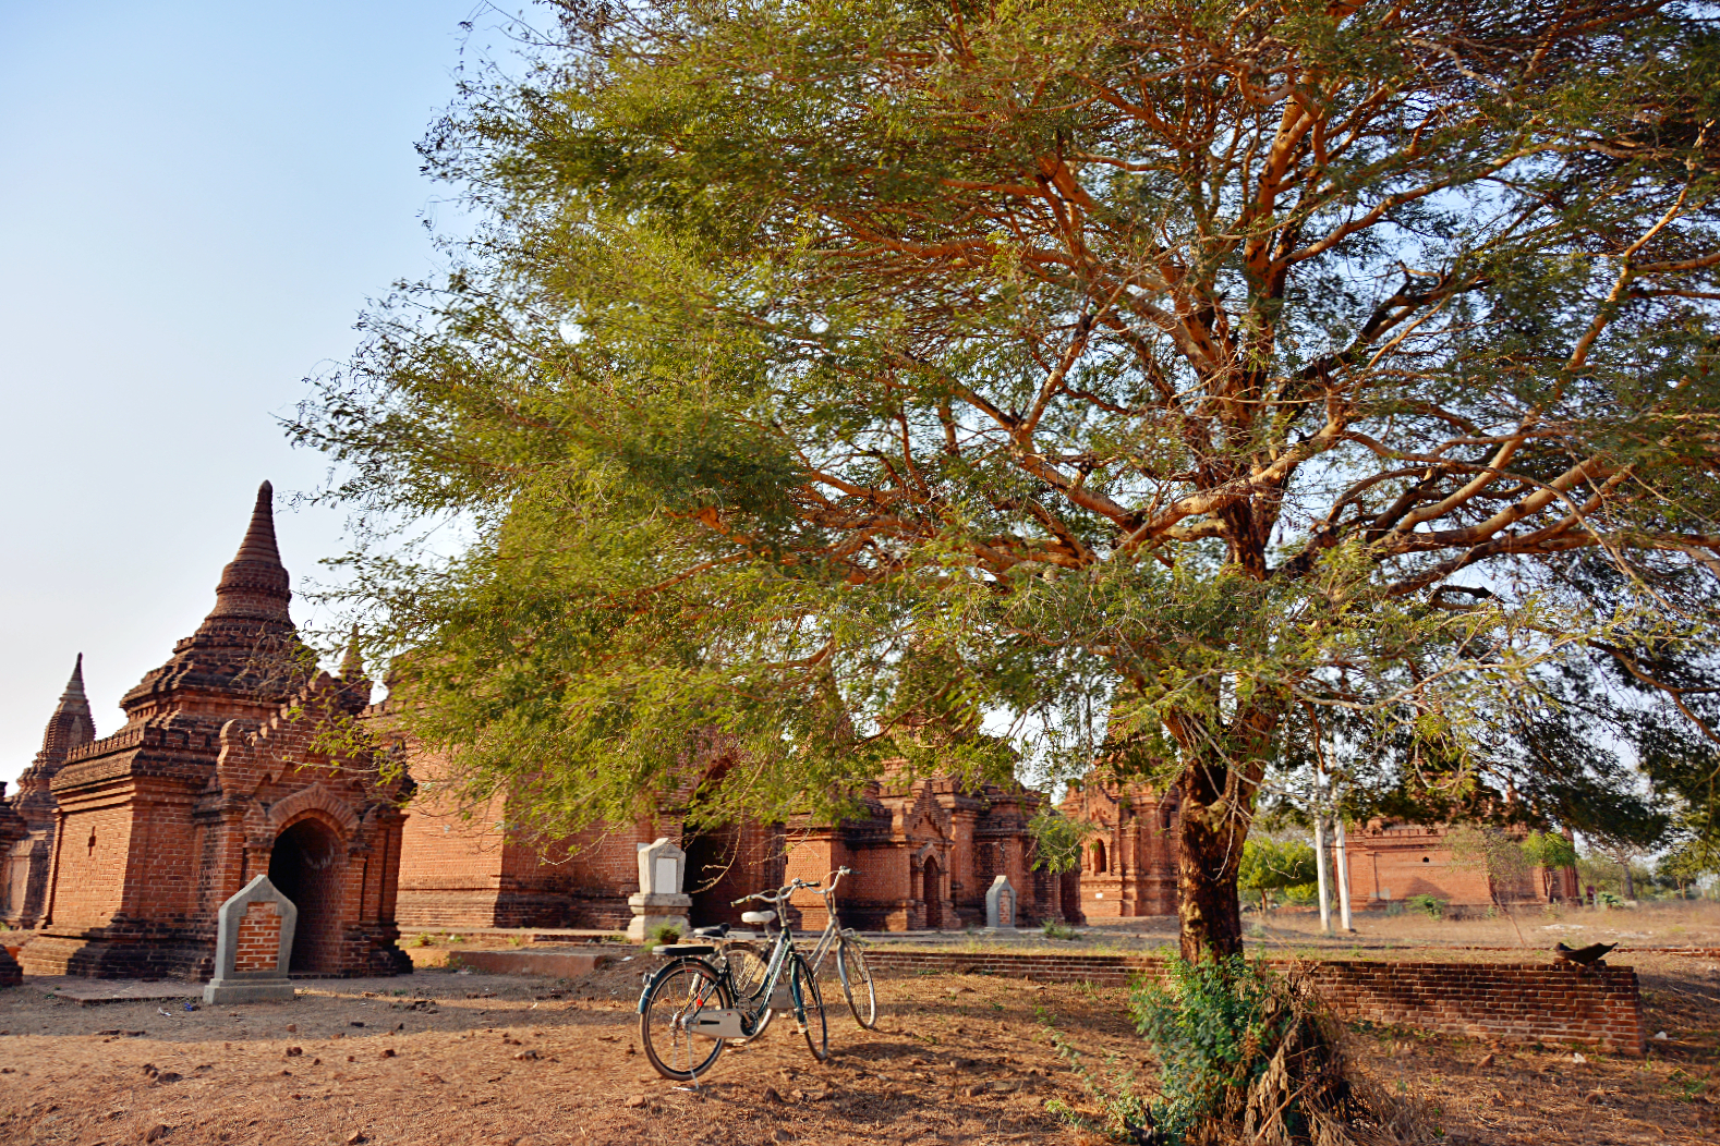
[[[411,969],[394,923],[411,782],[365,734],[361,667],[306,668],[291,596],[265,483],[215,608],[124,696],[126,725],[53,771],[26,971],[208,978],[220,904],[263,871],[299,907],[292,971]]]

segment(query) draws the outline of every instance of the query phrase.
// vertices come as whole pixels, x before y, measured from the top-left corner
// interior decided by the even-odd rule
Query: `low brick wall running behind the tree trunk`
[[[1125,986],[1159,976],[1161,959],[1144,955],[1011,955],[1006,952],[912,952],[874,947],[879,971],[998,974],[1035,983]],[[1288,962],[1275,960],[1283,969]],[[1517,962],[1314,964],[1314,983],[1350,1021],[1395,1022],[1505,1043],[1582,1043],[1641,1055],[1648,1033],[1632,967],[1579,971]]]

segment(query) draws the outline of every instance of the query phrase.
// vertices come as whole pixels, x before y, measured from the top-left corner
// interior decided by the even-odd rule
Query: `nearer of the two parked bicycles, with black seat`
[[[743,895],[733,905],[740,907],[757,900],[781,909],[788,904],[789,895],[802,888],[817,890],[819,885],[795,880],[776,892]],[[771,936],[771,921],[774,919],[777,919],[777,911],[741,914],[741,923],[764,926],[767,936]],[[734,952],[734,959],[728,950],[719,954],[717,943],[728,933],[726,923],[714,928],[695,928],[695,938],[712,942],[654,948],[652,954],[671,959],[645,979],[638,1012],[640,1043],[645,1045],[645,1058],[650,1060],[657,1074],[678,1082],[697,1082],[700,1074],[716,1065],[728,1043],[748,1043],[759,1038],[771,1026],[777,1010],[793,1010],[795,1022],[807,1038],[807,1050],[819,1062],[829,1058],[831,1031],[824,1019],[824,997],[819,993],[817,976],[814,976],[805,955],[795,950],[793,931],[777,921],[776,935],[771,936],[771,955],[762,972],[740,950]],[[734,947],[738,948],[740,943]],[[757,955],[750,947],[746,950]],[[717,959],[710,959],[712,955]],[[736,962],[741,964],[740,978],[736,978],[733,966]],[[788,971],[786,995],[777,986],[784,971]],[[710,1039],[710,1053],[697,1064],[693,1062],[695,1038]],[[659,1039],[666,1039],[666,1046],[659,1048]],[[667,1057],[660,1052],[667,1052]]]

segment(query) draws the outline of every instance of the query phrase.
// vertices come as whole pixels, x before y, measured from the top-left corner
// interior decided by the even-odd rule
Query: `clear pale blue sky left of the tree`
[[[459,27],[471,21],[473,31]],[[213,605],[256,486],[294,588],[342,515],[279,418],[459,213],[413,144],[476,0],[0,0],[0,780],[84,655],[96,732]],[[316,612],[294,600],[294,619]],[[327,620],[327,619],[325,619]]]

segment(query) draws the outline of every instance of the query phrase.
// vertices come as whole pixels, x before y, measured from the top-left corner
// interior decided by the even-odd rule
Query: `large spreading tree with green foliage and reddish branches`
[[[359,555],[418,734],[571,825],[1109,720],[1238,950],[1287,737],[1474,790],[1558,658],[1701,655],[1705,10],[554,7],[423,144],[476,237],[296,424],[470,529]]]

